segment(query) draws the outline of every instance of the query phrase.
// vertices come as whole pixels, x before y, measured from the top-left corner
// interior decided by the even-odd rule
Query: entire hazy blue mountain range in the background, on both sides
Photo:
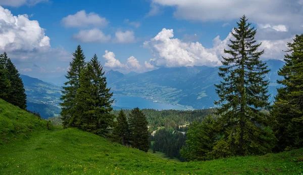
[[[280,60],[266,61],[271,71],[266,75],[270,81],[270,101],[274,100],[277,93],[277,71],[284,65]],[[177,68],[159,68],[153,71],[123,74],[119,71],[106,72],[108,86],[117,96],[141,97],[150,101],[166,104],[178,104],[188,109],[203,109],[214,106],[218,100],[214,84],[222,80],[218,76],[219,67],[193,66]],[[28,109],[40,113],[44,117],[58,115],[60,113],[60,90],[65,81],[61,76],[57,79],[31,78],[21,75],[28,100]],[[59,85],[59,86],[58,86]],[[123,106],[116,108],[123,108]],[[39,109],[38,109],[39,108]],[[40,113],[41,114],[41,113]],[[43,114],[41,114],[43,116]]]

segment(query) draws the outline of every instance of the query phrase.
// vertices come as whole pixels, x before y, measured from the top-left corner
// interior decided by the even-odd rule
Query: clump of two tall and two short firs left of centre
[[[103,67],[94,55],[89,62],[80,45],[73,53],[62,91],[61,117],[63,126],[77,127],[86,132],[103,136],[123,145],[148,151],[146,116],[135,108],[127,120],[123,111],[114,122],[112,113],[113,93],[107,87]]]

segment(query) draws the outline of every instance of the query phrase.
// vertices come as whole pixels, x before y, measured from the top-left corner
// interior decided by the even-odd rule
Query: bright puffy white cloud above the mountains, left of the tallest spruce
[[[204,48],[201,43],[182,42],[173,36],[173,29],[163,28],[154,38],[143,43],[143,47],[150,48],[158,56],[156,66],[221,65],[216,53]]]

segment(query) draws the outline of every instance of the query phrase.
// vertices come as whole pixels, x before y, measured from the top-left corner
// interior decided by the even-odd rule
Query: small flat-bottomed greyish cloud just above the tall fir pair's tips
[[[99,29],[80,30],[73,38],[81,42],[108,42],[111,35],[105,35]]]

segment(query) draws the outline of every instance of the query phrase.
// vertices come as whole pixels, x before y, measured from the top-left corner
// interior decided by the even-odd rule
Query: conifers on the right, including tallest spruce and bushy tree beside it
[[[219,68],[215,84],[218,117],[194,122],[186,134],[181,155],[190,160],[262,155],[303,147],[303,34],[287,43],[285,65],[278,71],[283,86],[273,106],[268,102],[270,71],[260,60],[264,50],[256,43],[255,27],[243,16],[232,31],[229,57]],[[268,110],[269,112],[264,112]]]

